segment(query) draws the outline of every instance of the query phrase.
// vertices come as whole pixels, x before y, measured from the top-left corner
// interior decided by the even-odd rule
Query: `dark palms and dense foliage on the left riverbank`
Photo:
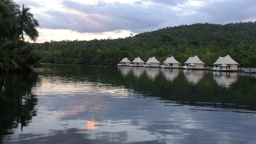
[[[12,0],[0,0],[0,72],[32,70],[39,56],[32,51],[33,44],[25,42],[23,34],[36,41],[39,24],[30,8]]]

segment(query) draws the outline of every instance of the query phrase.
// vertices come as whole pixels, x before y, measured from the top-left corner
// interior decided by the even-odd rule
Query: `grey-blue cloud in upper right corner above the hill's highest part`
[[[240,22],[247,18],[256,19],[256,1],[217,1],[195,9],[194,14],[182,16],[186,24]]]

